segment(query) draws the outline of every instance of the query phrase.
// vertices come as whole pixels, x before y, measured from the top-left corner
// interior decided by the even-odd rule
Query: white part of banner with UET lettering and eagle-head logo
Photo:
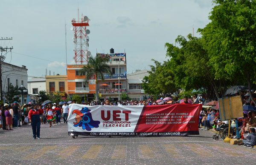
[[[68,132],[134,132],[143,107],[70,104]]]

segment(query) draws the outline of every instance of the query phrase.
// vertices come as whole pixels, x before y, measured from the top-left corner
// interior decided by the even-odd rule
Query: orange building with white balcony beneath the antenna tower
[[[84,67],[84,65],[74,64],[67,65],[67,89],[68,94],[76,94],[81,97],[86,96],[87,99],[92,100],[93,94],[96,93],[95,90],[95,77],[90,79],[88,82],[85,81],[85,76],[80,76],[79,71]],[[86,100],[84,100],[86,101]]]

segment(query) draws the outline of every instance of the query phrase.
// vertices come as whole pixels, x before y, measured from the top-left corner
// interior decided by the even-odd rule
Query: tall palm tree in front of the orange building
[[[88,58],[88,64],[85,65],[81,71],[81,75],[85,76],[85,81],[88,82],[88,80],[95,75],[96,81],[96,100],[99,100],[99,88],[98,88],[98,78],[101,80],[104,80],[104,74],[108,73],[112,75],[111,68],[107,64],[108,58],[106,57],[89,57]]]

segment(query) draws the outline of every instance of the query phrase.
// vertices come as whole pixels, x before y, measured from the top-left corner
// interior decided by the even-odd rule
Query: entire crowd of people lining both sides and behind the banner
[[[241,94],[243,105],[254,105],[254,102],[250,100],[248,93]],[[253,98],[256,98],[256,93],[253,94]],[[204,104],[205,98],[203,96],[193,95],[191,98],[184,97],[182,100],[178,100],[177,97],[169,97],[169,99],[160,98],[159,100],[127,100],[127,101],[111,101],[106,99],[105,101],[91,101],[84,102],[84,105],[165,105],[165,104]],[[73,101],[72,103],[76,103]],[[63,117],[64,123],[67,123],[68,117],[68,105],[64,102],[64,105],[58,103],[47,104],[44,106],[33,105],[31,103],[20,106],[17,102],[9,105],[5,103],[0,108],[0,129],[6,131],[13,130],[12,128],[18,128],[21,125],[32,125],[33,139],[40,139],[40,125],[49,124],[49,127],[53,125],[59,125],[61,123],[61,117]],[[221,126],[228,125],[229,121],[221,121],[218,108],[202,108],[199,114],[198,128],[201,130],[219,130]],[[242,146],[252,148],[256,145],[256,111],[244,111],[244,117],[238,119],[240,136],[244,139]],[[234,126],[234,125],[233,125]],[[236,137],[234,137],[236,138]]]

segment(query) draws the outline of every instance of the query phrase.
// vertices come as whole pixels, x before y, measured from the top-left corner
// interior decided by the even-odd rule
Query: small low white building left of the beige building
[[[46,91],[45,78],[31,78],[28,80],[28,94],[38,94],[39,91]]]

